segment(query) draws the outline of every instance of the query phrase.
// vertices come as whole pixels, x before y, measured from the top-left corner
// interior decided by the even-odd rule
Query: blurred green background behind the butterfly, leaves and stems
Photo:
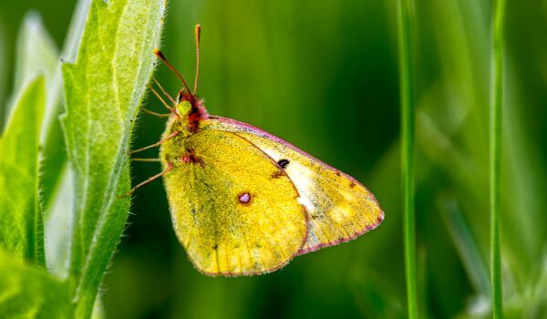
[[[424,317],[489,315],[490,1],[415,7],[418,293]],[[0,117],[29,10],[62,47],[74,0],[0,3]],[[277,273],[210,278],[177,242],[161,182],[139,190],[103,284],[111,318],[405,317],[396,1],[171,0],[162,49],[210,113],[286,139],[372,190],[386,220]],[[547,317],[547,1],[508,1],[501,250],[508,317]],[[151,54],[151,53],[150,53]],[[108,61],[105,61],[108,63]],[[160,83],[180,84],[165,67]],[[161,110],[149,97],[148,108]],[[108,111],[108,110],[105,110]],[[0,121],[2,127],[4,121]],[[143,115],[134,147],[157,141]],[[151,152],[150,154],[153,154]],[[133,165],[133,180],[155,174]]]

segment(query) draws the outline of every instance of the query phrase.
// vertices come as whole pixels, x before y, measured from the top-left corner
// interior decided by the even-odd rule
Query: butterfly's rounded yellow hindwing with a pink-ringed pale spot
[[[175,232],[196,268],[267,273],[301,250],[307,221],[298,191],[261,149],[214,129],[174,143],[161,149],[173,163],[164,184]]]

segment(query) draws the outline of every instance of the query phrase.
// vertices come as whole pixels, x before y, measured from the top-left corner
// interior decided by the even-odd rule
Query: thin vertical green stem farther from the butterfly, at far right
[[[497,0],[492,27],[490,92],[490,284],[492,317],[502,318],[500,256],[501,122],[503,112],[503,17],[505,0]]]

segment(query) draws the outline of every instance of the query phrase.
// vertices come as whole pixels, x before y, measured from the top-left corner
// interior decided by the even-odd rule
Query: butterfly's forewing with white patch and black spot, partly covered
[[[201,128],[233,132],[284,166],[309,220],[299,254],[350,241],[384,220],[384,212],[365,186],[283,139],[230,118],[211,117]]]

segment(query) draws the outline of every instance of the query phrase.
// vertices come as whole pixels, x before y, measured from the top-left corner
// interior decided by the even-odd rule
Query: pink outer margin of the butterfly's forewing
[[[256,127],[253,127],[252,125],[250,124],[247,124],[247,123],[243,123],[243,122],[240,122],[238,120],[235,120],[235,119],[232,119],[232,118],[222,118],[222,117],[216,117],[216,116],[209,116],[208,119],[212,119],[212,120],[218,120],[219,122],[222,122],[222,123],[225,123],[225,124],[229,124],[229,125],[232,125],[234,127],[237,127],[237,128],[242,128],[242,129],[234,129],[234,131],[245,131],[245,132],[249,132],[249,133],[252,133],[254,135],[257,135],[257,136],[260,136],[260,137],[263,137],[265,139],[271,139],[271,140],[274,140],[275,142],[278,142],[278,143],[281,143],[283,144],[284,146],[286,146],[287,148],[290,148],[290,149],[293,149],[294,151],[304,155],[305,157],[311,159],[311,160],[315,160],[317,161],[318,163],[320,163],[321,165],[325,166],[325,168],[329,169],[329,170],[333,170],[335,172],[338,172],[340,173],[341,175],[345,176],[348,180],[351,180],[353,182],[355,182],[357,185],[359,186],[362,186],[366,191],[368,191],[368,193],[371,195],[371,199],[372,201],[374,201],[376,204],[377,204],[377,207],[380,208],[380,214],[377,218],[377,222],[374,223],[374,224],[370,224],[370,225],[367,225],[366,228],[364,230],[362,230],[361,232],[356,232],[355,234],[351,235],[351,236],[348,236],[348,237],[345,237],[345,238],[342,238],[342,239],[339,239],[339,240],[336,240],[336,241],[333,241],[333,242],[322,242],[322,243],[319,243],[315,246],[311,246],[311,247],[308,247],[308,248],[302,248],[299,252],[297,252],[295,254],[295,256],[298,256],[298,255],[302,255],[304,253],[308,253],[308,252],[315,252],[321,248],[325,248],[325,247],[330,247],[330,246],[335,246],[339,243],[343,243],[343,242],[349,242],[349,241],[353,241],[354,239],[356,239],[357,237],[363,235],[364,233],[366,232],[369,232],[369,231],[372,231],[374,229],[376,229],[380,223],[382,221],[384,221],[384,218],[385,218],[385,214],[384,214],[384,210],[381,209],[380,207],[380,204],[378,203],[376,197],[374,196],[374,194],[368,190],[366,188],[365,185],[363,185],[361,182],[359,182],[358,180],[354,179],[353,177],[347,175],[345,172],[341,171],[341,170],[336,170],[334,167],[326,164],[325,162],[323,162],[322,160],[318,160],[316,159],[314,156],[306,153],[304,150],[302,149],[298,149],[297,147],[295,147],[293,144],[287,142],[286,140],[284,139],[280,139],[276,136],[274,136],[274,134],[271,134],[271,133],[268,133],[266,131],[264,131],[263,129],[259,129],[259,128],[256,128]]]

